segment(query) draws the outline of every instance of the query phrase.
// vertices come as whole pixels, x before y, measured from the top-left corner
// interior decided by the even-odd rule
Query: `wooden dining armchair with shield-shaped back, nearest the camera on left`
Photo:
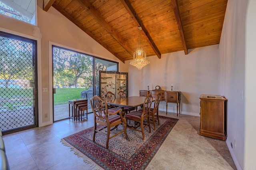
[[[107,149],[108,149],[108,142],[111,138],[123,132],[124,132],[124,137],[126,137],[126,119],[122,116],[122,114],[117,115],[117,113],[120,113],[122,109],[119,109],[114,113],[108,112],[108,106],[106,101],[102,100],[99,96],[92,97],[92,99],[90,99],[90,103],[92,106],[92,111],[94,113],[94,133],[93,133],[94,142],[95,142],[95,135],[97,132],[107,135],[107,141],[106,141]],[[103,127],[99,126],[100,128],[97,129],[97,123],[99,125],[103,125]],[[110,131],[114,129],[112,127],[117,127],[119,124],[123,124],[122,131],[118,133],[114,133],[113,131]],[[110,132],[114,134],[110,136]]]

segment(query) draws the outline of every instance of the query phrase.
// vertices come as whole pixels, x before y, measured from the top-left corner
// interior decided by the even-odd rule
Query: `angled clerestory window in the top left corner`
[[[0,0],[0,14],[36,25],[36,0]]]

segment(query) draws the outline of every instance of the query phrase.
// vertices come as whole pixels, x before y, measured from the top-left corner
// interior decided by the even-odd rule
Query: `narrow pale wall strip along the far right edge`
[[[244,169],[256,169],[256,1],[248,1],[245,57],[245,132]]]

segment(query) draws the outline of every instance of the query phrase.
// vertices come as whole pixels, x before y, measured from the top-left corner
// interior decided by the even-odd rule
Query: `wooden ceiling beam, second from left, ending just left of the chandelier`
[[[90,4],[90,2],[88,2],[87,0],[77,0],[77,1],[80,2],[80,4],[84,5],[84,7],[86,7],[90,11],[92,16],[94,16],[94,18],[98,20],[98,22],[124,47],[124,49],[126,49],[126,51],[133,56],[134,49],[132,49],[128,45],[128,43],[126,43],[120,37],[120,35],[113,30],[113,28],[106,22],[106,20],[104,20],[104,18],[102,18],[100,13]]]

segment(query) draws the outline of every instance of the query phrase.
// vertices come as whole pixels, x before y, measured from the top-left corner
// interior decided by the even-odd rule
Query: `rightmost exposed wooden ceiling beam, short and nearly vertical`
[[[177,0],[171,0],[171,2],[172,2],[172,6],[173,6],[173,11],[174,11],[174,14],[175,14],[176,22],[178,24],[178,28],[179,28],[179,32],[180,32],[180,38],[181,38],[181,41],[182,41],[184,52],[185,52],[185,54],[188,54],[188,47],[187,47],[186,41],[185,41],[182,21],[181,21],[181,18],[180,18],[180,10],[179,10],[179,7],[178,7],[178,2],[177,2]]]

